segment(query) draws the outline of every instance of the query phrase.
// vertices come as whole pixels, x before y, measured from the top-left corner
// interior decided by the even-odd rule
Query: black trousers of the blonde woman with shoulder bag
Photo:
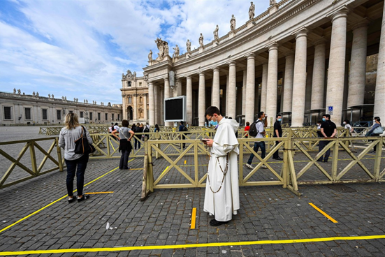
[[[78,189],[78,196],[83,194],[83,186],[85,184],[85,169],[87,168],[88,154],[84,154],[79,159],[66,161],[67,166],[67,193],[68,196],[73,196],[73,179],[76,172],[76,189]]]

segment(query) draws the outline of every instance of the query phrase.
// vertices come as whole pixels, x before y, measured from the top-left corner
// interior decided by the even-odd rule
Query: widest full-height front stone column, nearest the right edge
[[[326,113],[333,106],[331,120],[340,126],[342,103],[344,101],[345,52],[347,42],[347,10],[332,15],[332,33],[328,69],[328,90],[326,91]]]

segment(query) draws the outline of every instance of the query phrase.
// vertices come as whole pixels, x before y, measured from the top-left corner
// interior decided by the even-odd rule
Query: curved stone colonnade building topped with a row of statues
[[[158,57],[150,52],[145,76],[123,76],[124,112],[132,106],[130,117],[164,124],[164,98],[185,95],[187,122],[199,126],[210,105],[243,124],[259,111],[269,117],[280,113],[295,127],[325,113],[339,125],[345,118],[382,116],[384,0],[270,1],[256,17],[253,4],[245,6],[245,15],[249,20],[240,26],[231,17],[225,36],[214,31],[214,41],[204,45],[201,34],[198,49],[187,41],[185,53],[175,47],[173,57],[158,38]],[[368,64],[374,67],[370,72]]]

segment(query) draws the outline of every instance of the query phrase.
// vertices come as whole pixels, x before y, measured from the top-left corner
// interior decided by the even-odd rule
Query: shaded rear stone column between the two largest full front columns
[[[315,49],[312,79],[312,104],[310,105],[310,109],[312,110],[324,108],[326,39],[321,38],[313,44]]]

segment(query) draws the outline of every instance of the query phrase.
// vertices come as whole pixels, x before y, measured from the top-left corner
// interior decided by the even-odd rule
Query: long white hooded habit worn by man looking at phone
[[[204,211],[214,215],[217,221],[229,221],[239,210],[238,184],[238,140],[235,132],[238,123],[234,119],[221,119],[211,147],[208,163],[208,179],[206,181]],[[228,172],[224,177],[226,156],[228,155]],[[220,166],[218,164],[218,160]],[[224,181],[222,184],[222,179]],[[221,186],[222,184],[222,186]],[[218,191],[219,187],[221,189]],[[210,189],[211,187],[211,189]],[[212,193],[212,191],[217,193]]]

